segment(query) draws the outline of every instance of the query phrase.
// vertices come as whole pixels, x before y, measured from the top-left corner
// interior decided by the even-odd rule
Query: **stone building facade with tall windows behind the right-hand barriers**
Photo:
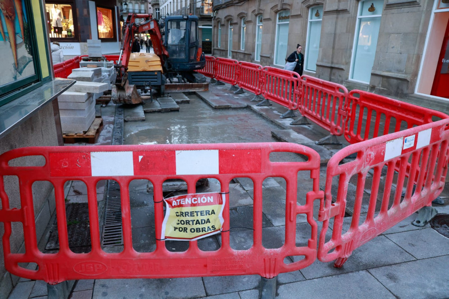
[[[448,0],[217,0],[213,55],[449,112]]]

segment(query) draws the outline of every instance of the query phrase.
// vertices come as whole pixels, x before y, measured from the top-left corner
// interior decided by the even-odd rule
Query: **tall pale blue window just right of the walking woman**
[[[309,9],[309,23],[307,26],[307,42],[305,52],[305,69],[316,71],[316,61],[320,49],[321,20],[323,17],[323,6],[314,6]]]

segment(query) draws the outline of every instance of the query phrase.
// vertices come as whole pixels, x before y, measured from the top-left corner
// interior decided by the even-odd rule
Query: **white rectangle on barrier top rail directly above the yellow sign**
[[[177,150],[176,174],[219,174],[219,151]]]

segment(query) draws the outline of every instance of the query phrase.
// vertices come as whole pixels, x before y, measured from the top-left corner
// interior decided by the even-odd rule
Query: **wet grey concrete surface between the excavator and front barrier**
[[[279,127],[248,109],[214,109],[196,95],[190,104],[168,113],[147,113],[146,120],[127,122],[124,144],[216,144],[276,142],[271,131]]]

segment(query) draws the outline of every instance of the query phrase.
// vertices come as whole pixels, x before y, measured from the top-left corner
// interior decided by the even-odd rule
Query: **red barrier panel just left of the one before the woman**
[[[262,94],[262,66],[239,61],[238,62],[238,87],[244,88],[249,92],[254,93],[256,96]]]

